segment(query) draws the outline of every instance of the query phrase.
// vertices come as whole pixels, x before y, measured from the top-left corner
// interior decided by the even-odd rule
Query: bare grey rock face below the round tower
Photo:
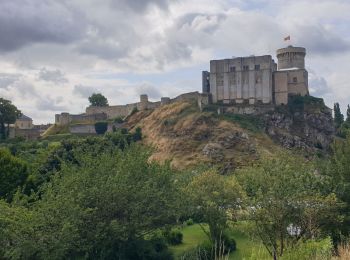
[[[266,133],[285,148],[327,150],[335,133],[330,109],[272,112],[265,115]]]

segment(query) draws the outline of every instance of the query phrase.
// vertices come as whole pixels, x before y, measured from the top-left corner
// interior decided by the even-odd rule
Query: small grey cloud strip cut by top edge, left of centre
[[[152,5],[167,9],[171,1],[174,0],[111,0],[111,5],[118,9],[126,8],[135,12],[144,12]]]

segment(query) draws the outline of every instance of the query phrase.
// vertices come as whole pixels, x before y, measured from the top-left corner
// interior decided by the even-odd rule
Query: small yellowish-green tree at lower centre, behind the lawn
[[[209,233],[203,228],[211,242],[220,241],[228,220],[233,220],[244,193],[235,181],[214,171],[195,176],[186,188],[192,199],[193,211],[203,216]]]

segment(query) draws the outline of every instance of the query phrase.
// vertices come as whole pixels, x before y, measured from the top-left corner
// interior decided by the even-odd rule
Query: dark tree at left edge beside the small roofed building
[[[0,98],[0,134],[2,139],[9,135],[10,124],[14,124],[21,115],[21,111],[14,106],[11,101]],[[7,124],[7,131],[5,125]]]

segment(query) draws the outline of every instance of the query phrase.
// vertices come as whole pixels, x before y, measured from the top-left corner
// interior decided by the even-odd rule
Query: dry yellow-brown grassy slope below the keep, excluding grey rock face
[[[140,111],[127,127],[141,127],[144,142],[155,148],[152,159],[178,169],[206,164],[222,171],[251,164],[261,153],[282,149],[251,116],[200,112],[195,103],[176,102]]]

